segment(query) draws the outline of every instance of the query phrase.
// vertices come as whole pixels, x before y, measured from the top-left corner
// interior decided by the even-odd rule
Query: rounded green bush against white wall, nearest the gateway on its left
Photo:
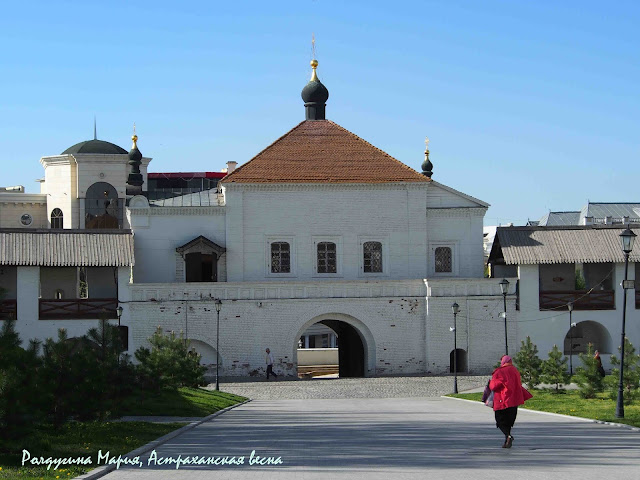
[[[158,327],[149,343],[151,349],[140,347],[135,352],[140,362],[136,370],[143,389],[158,391],[204,384],[206,368],[200,365],[201,356],[189,351],[182,334],[165,335]]]

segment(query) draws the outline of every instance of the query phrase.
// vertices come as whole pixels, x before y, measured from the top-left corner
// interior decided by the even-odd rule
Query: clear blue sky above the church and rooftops
[[[485,224],[640,201],[637,2],[11,2],[0,19],[0,185],[93,137],[150,171],[242,164],[327,118],[489,202]]]

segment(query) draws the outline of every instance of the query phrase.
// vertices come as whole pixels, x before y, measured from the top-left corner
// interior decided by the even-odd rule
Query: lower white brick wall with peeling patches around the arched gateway
[[[402,375],[448,371],[451,304],[458,301],[459,348],[469,352],[473,372],[488,372],[504,347],[498,292],[493,279],[134,284],[127,312],[133,349],[160,326],[215,350],[214,300],[222,299],[221,372],[230,376],[262,375],[267,347],[276,372],[295,375],[300,336],[318,321],[341,320],[364,339],[367,375]],[[514,302],[511,294],[510,322]],[[515,328],[509,335],[515,342]]]

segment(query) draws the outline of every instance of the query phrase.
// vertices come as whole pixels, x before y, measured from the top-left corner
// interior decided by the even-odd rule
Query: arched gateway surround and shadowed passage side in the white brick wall
[[[351,315],[329,313],[318,315],[302,325],[290,339],[293,359],[298,363],[298,340],[312,325],[321,323],[338,336],[339,376],[366,377],[375,374],[375,342],[367,326]]]

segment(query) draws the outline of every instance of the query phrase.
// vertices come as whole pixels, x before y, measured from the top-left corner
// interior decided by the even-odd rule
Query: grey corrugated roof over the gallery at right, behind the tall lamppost
[[[640,226],[632,228],[640,235]],[[620,233],[626,225],[498,227],[489,262],[506,265],[624,262]],[[640,261],[640,247],[631,252]]]

